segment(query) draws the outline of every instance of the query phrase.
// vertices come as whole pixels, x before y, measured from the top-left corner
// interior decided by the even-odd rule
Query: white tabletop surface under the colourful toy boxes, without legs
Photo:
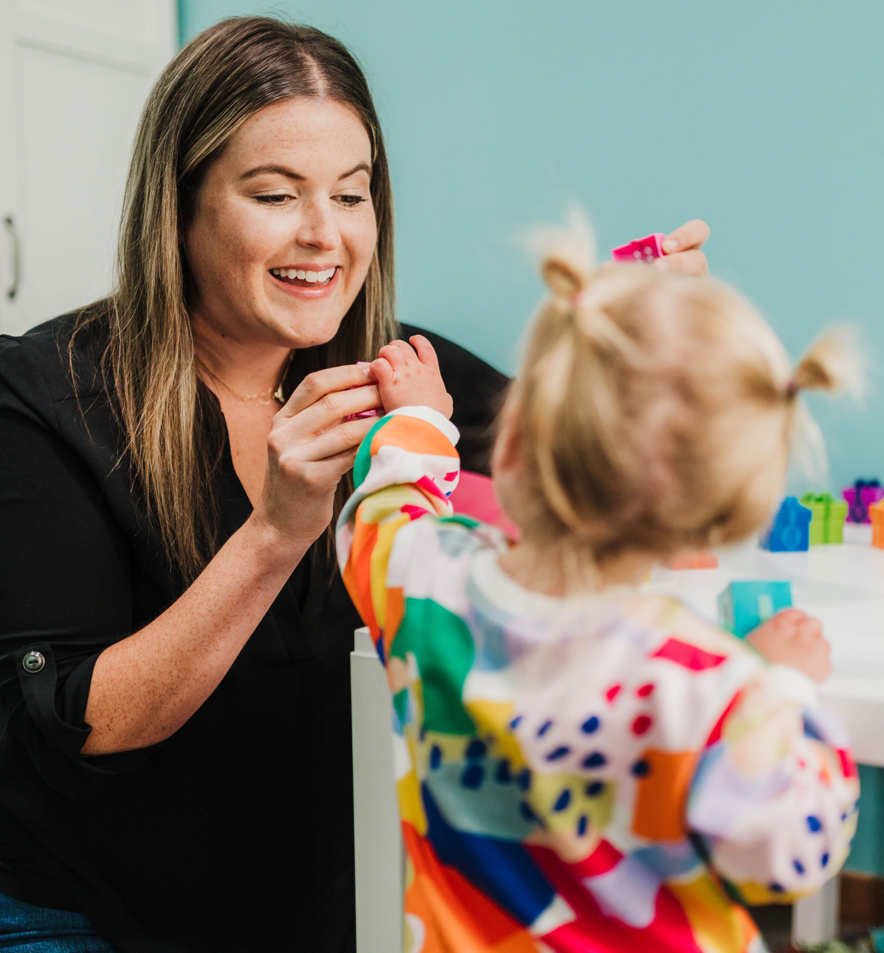
[[[884,550],[866,541],[871,526],[845,530],[850,542],[806,553],[719,550],[717,569],[657,568],[647,586],[717,620],[718,594],[734,579],[788,579],[794,605],[822,621],[832,644],[823,700],[847,725],[856,760],[884,766]]]

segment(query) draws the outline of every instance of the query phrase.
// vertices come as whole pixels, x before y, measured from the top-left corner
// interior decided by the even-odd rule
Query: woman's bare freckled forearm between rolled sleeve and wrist
[[[224,678],[309,547],[251,518],[162,616],[105,649],[92,673],[83,754],[143,748],[177,731]]]

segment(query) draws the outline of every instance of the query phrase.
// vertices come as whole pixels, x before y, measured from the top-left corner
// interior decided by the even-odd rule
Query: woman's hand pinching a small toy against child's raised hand
[[[380,403],[368,372],[355,365],[317,371],[273,417],[264,491],[251,519],[295,548],[329,525],[334,490],[375,422],[346,419]]]

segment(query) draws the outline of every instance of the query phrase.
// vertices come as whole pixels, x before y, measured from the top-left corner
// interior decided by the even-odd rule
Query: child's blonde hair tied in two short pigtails
[[[822,335],[793,371],[721,282],[641,264],[595,271],[579,222],[542,245],[550,295],[507,411],[534,491],[523,531],[601,563],[761,529],[794,442],[813,433],[798,393],[858,379],[843,336]]]

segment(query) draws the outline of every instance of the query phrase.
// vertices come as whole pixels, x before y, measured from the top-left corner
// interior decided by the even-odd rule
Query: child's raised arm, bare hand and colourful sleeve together
[[[457,429],[452,399],[430,342],[416,349],[394,341],[372,362],[386,416],[362,442],[353,466],[355,492],[337,524],[337,555],[353,603],[376,642],[390,644],[401,621],[401,590],[388,587],[388,564],[399,532],[427,514],[450,516],[457,485]],[[401,549],[401,546],[400,546]]]

